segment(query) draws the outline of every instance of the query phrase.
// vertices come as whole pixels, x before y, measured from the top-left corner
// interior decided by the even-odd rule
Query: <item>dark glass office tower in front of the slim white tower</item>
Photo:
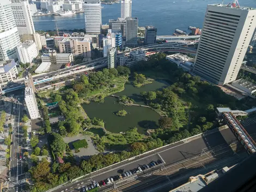
[[[126,20],[126,47],[137,47],[138,18],[127,17]]]

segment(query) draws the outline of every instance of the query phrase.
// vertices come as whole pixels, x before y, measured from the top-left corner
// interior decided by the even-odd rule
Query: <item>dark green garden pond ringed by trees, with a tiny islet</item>
[[[125,90],[115,95],[126,95],[133,98],[136,104],[144,104],[139,97],[140,92],[158,90],[165,86],[168,86],[168,83],[162,80],[154,80],[153,83],[141,88],[126,84]],[[160,118],[160,115],[154,110],[145,107],[123,106],[118,104],[117,99],[111,96],[105,97],[104,103],[91,102],[90,104],[83,104],[83,108],[91,119],[93,117],[102,119],[105,122],[106,129],[113,133],[125,132],[132,127],[137,127],[139,133],[145,133],[148,128],[157,128]],[[115,115],[121,109],[125,109],[128,114],[124,117]]]

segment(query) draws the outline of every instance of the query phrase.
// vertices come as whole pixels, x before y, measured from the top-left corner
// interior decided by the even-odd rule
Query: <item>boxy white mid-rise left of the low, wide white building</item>
[[[38,56],[38,49],[35,42],[23,42],[17,46],[19,60],[21,63],[32,63],[32,60]]]

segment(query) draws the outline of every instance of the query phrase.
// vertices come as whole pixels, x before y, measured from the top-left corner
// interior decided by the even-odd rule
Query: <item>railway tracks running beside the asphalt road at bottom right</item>
[[[237,158],[234,155],[234,151],[237,148],[236,144],[231,146],[217,146],[208,151],[205,151],[202,154],[199,154],[196,157],[184,160],[176,164],[170,164],[162,166],[161,169],[155,170],[153,173],[139,175],[135,181],[126,182],[126,183],[117,183],[116,189],[108,189],[104,191],[125,191],[125,192],[134,192],[134,191],[143,191],[145,188],[155,187],[156,184],[162,182],[169,182],[169,187],[173,185],[173,179],[186,175],[188,170],[196,170],[198,168],[204,168],[206,164],[217,163],[215,167],[223,166],[223,162],[227,161],[231,157],[232,162],[239,163],[241,159]],[[233,157],[232,157],[233,156]],[[225,160],[226,159],[226,160]],[[230,162],[230,159],[228,159]],[[228,162],[226,162],[227,164]],[[213,170],[212,168],[211,170]],[[208,170],[208,171],[211,171]],[[186,176],[187,178],[189,176]],[[171,181],[172,179],[172,181]],[[166,184],[168,185],[168,184]]]

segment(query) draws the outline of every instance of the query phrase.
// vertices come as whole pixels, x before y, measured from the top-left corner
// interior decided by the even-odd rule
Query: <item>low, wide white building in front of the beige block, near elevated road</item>
[[[55,50],[44,53],[41,56],[42,62],[50,62],[51,64],[67,64],[73,61],[72,53],[56,53]]]

